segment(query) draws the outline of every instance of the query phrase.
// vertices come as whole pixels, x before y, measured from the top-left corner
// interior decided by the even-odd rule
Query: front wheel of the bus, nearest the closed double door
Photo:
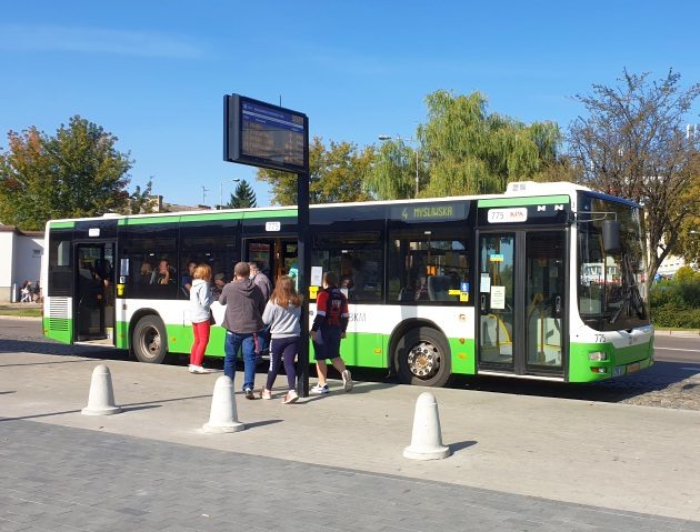
[[[394,368],[402,384],[443,387],[451,372],[444,335],[430,327],[410,329],[397,342]]]

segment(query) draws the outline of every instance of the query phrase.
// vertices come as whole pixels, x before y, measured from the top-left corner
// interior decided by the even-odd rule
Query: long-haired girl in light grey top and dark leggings
[[[272,399],[272,385],[277,373],[280,370],[282,360],[284,361],[284,372],[287,373],[287,384],[289,391],[282,402],[293,403],[299,399],[297,394],[297,371],[294,359],[299,352],[299,337],[301,325],[301,298],[294,290],[294,281],[289,275],[282,275],[277,281],[277,287],[270,295],[270,301],[262,313],[262,322],[270,325],[270,370],[268,381],[260,392],[260,398]]]

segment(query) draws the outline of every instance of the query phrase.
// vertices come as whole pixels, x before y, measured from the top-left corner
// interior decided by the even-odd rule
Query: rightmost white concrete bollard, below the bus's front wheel
[[[440,460],[450,455],[450,448],[442,444],[438,401],[431,392],[423,392],[416,401],[411,444],[403,456],[413,460]]]

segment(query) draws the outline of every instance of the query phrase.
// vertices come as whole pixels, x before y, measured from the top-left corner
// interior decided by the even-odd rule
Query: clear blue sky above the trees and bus
[[[571,97],[623,68],[700,82],[698,20],[693,0],[3,2],[0,147],[80,114],[131,152],[130,188],[153,177],[154,193],[196,204],[206,187],[213,204],[243,178],[266,205],[254,169],[222,160],[226,93],[281,98],[311,135],[359,147],[411,137],[438,89],[566,128],[582,112]]]

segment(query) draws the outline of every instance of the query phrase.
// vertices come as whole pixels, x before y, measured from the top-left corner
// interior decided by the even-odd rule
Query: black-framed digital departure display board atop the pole
[[[306,114],[239,94],[223,97],[223,160],[308,173]]]

